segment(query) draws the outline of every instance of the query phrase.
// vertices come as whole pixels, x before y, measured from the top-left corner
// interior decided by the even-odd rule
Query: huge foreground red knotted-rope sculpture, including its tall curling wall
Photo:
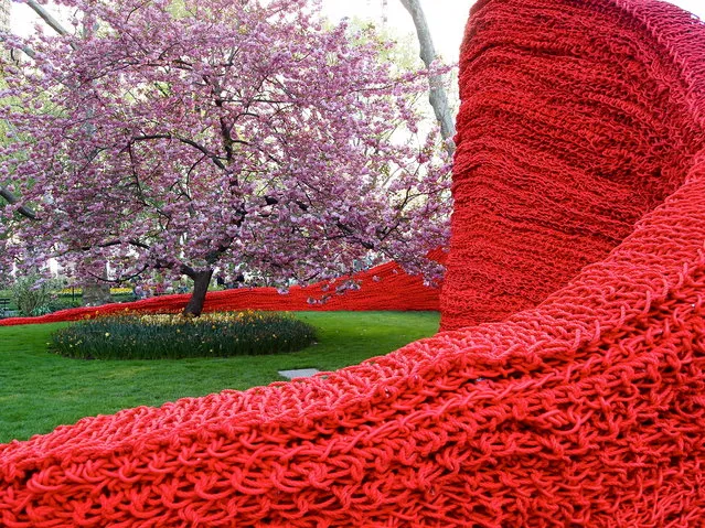
[[[468,32],[452,251],[468,255],[473,226],[509,233],[466,211],[483,202],[463,179],[498,168],[480,186],[501,184],[516,203],[535,188],[522,200],[543,216],[505,208],[494,222],[557,262],[522,259],[515,273],[530,277],[512,305],[542,300],[528,299],[533,282],[544,297],[544,281],[573,273],[569,283],[504,322],[325,376],[7,444],[0,525],[705,526],[705,26],[655,0],[490,0]],[[537,95],[509,100],[500,79]],[[598,188],[610,194],[598,200]],[[573,230],[559,235],[562,222]],[[503,254],[527,243],[493,244]],[[587,257],[569,249],[581,245],[591,258],[617,246],[577,270]],[[449,326],[466,324],[464,301],[452,301],[466,285],[447,285]],[[482,295],[500,305],[492,319],[510,310]]]

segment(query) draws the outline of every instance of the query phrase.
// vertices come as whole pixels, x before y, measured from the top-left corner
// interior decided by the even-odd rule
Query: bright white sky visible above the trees
[[[382,23],[383,0],[322,0],[324,12],[338,21],[343,17],[363,18]],[[415,34],[410,15],[399,0],[387,1],[388,26],[398,35]],[[705,20],[705,0],[669,0]],[[449,63],[458,52],[470,8],[474,0],[421,0],[438,53]],[[49,6],[51,10],[51,4]],[[12,2],[12,30],[25,35],[32,31],[36,15],[24,4]]]

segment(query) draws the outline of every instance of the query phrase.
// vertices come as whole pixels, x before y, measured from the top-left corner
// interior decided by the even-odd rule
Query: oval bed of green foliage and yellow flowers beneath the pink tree
[[[313,326],[275,312],[126,313],[62,328],[53,334],[51,349],[82,359],[180,359],[293,352],[314,338]]]

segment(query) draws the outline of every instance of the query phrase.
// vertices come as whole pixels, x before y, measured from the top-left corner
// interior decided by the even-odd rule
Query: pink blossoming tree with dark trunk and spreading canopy
[[[364,258],[437,277],[449,166],[417,130],[429,72],[382,61],[372,30],[305,0],[61,3],[74,32],[3,40],[31,50],[3,60],[4,266],[185,274],[196,315],[216,269],[286,285]]]

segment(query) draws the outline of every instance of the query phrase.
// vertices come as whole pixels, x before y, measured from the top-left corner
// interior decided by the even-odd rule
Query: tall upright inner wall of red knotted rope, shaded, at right
[[[663,52],[600,2],[584,28],[585,3],[476,8],[444,330],[535,306],[602,259],[681,184],[699,146]]]

